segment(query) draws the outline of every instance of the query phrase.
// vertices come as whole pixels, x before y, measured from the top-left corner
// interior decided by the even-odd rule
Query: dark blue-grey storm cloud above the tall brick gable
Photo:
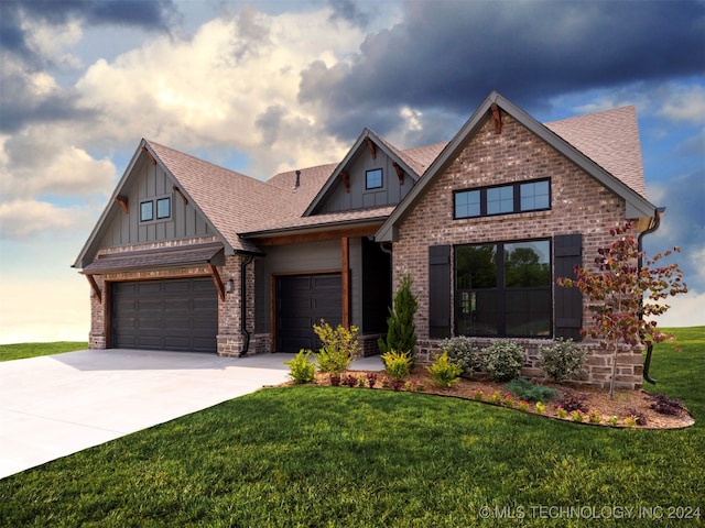
[[[352,138],[373,111],[399,105],[467,112],[498,89],[530,107],[590,87],[698,75],[705,63],[705,4],[696,1],[677,10],[668,2],[404,6],[405,19],[369,34],[355,61],[313,63],[302,74],[302,101],[345,114],[346,125],[334,119],[332,132]]]

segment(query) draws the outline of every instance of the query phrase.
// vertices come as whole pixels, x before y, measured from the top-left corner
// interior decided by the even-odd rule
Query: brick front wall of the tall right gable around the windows
[[[454,190],[546,177],[551,178],[552,193],[549,211],[453,219]],[[583,264],[590,265],[597,249],[610,242],[609,229],[626,221],[625,211],[621,198],[511,117],[502,116],[501,134],[495,133],[490,120],[486,121],[399,226],[398,241],[393,243],[394,287],[405,273],[413,277],[412,288],[419,300],[415,323],[420,351],[432,344],[429,341],[429,246],[582,233]],[[590,320],[587,306],[584,307],[583,320],[584,326]],[[593,363],[585,382],[600,385],[605,382],[603,370],[611,363],[594,351],[594,343],[586,345],[590,348]],[[626,363],[632,366],[620,367],[621,382],[637,387],[641,384],[641,372],[634,367],[634,358],[640,358],[640,352],[633,351],[628,355]],[[529,364],[528,369],[533,366]]]

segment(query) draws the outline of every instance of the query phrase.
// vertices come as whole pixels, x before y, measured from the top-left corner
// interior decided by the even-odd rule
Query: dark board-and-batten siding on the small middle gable
[[[350,175],[350,190],[345,187],[338,177],[330,195],[321,205],[316,212],[339,212],[354,209],[367,209],[387,207],[399,204],[413,187],[413,179],[404,174],[404,183],[400,185],[393,160],[379,148],[377,157],[372,160],[367,148],[352,161],[352,166],[347,170]],[[365,175],[367,170],[382,169],[382,187],[379,189],[365,188]]]

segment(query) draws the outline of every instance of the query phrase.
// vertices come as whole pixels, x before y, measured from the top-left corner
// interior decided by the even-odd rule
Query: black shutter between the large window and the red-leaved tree
[[[575,278],[575,266],[583,265],[583,235],[562,234],[553,238],[554,278]],[[579,341],[583,327],[583,295],[576,287],[565,288],[554,283],[555,337]]]

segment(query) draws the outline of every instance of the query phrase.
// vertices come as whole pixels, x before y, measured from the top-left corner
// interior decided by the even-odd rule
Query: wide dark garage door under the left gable
[[[218,298],[210,277],[113,283],[111,346],[216,352]]]

